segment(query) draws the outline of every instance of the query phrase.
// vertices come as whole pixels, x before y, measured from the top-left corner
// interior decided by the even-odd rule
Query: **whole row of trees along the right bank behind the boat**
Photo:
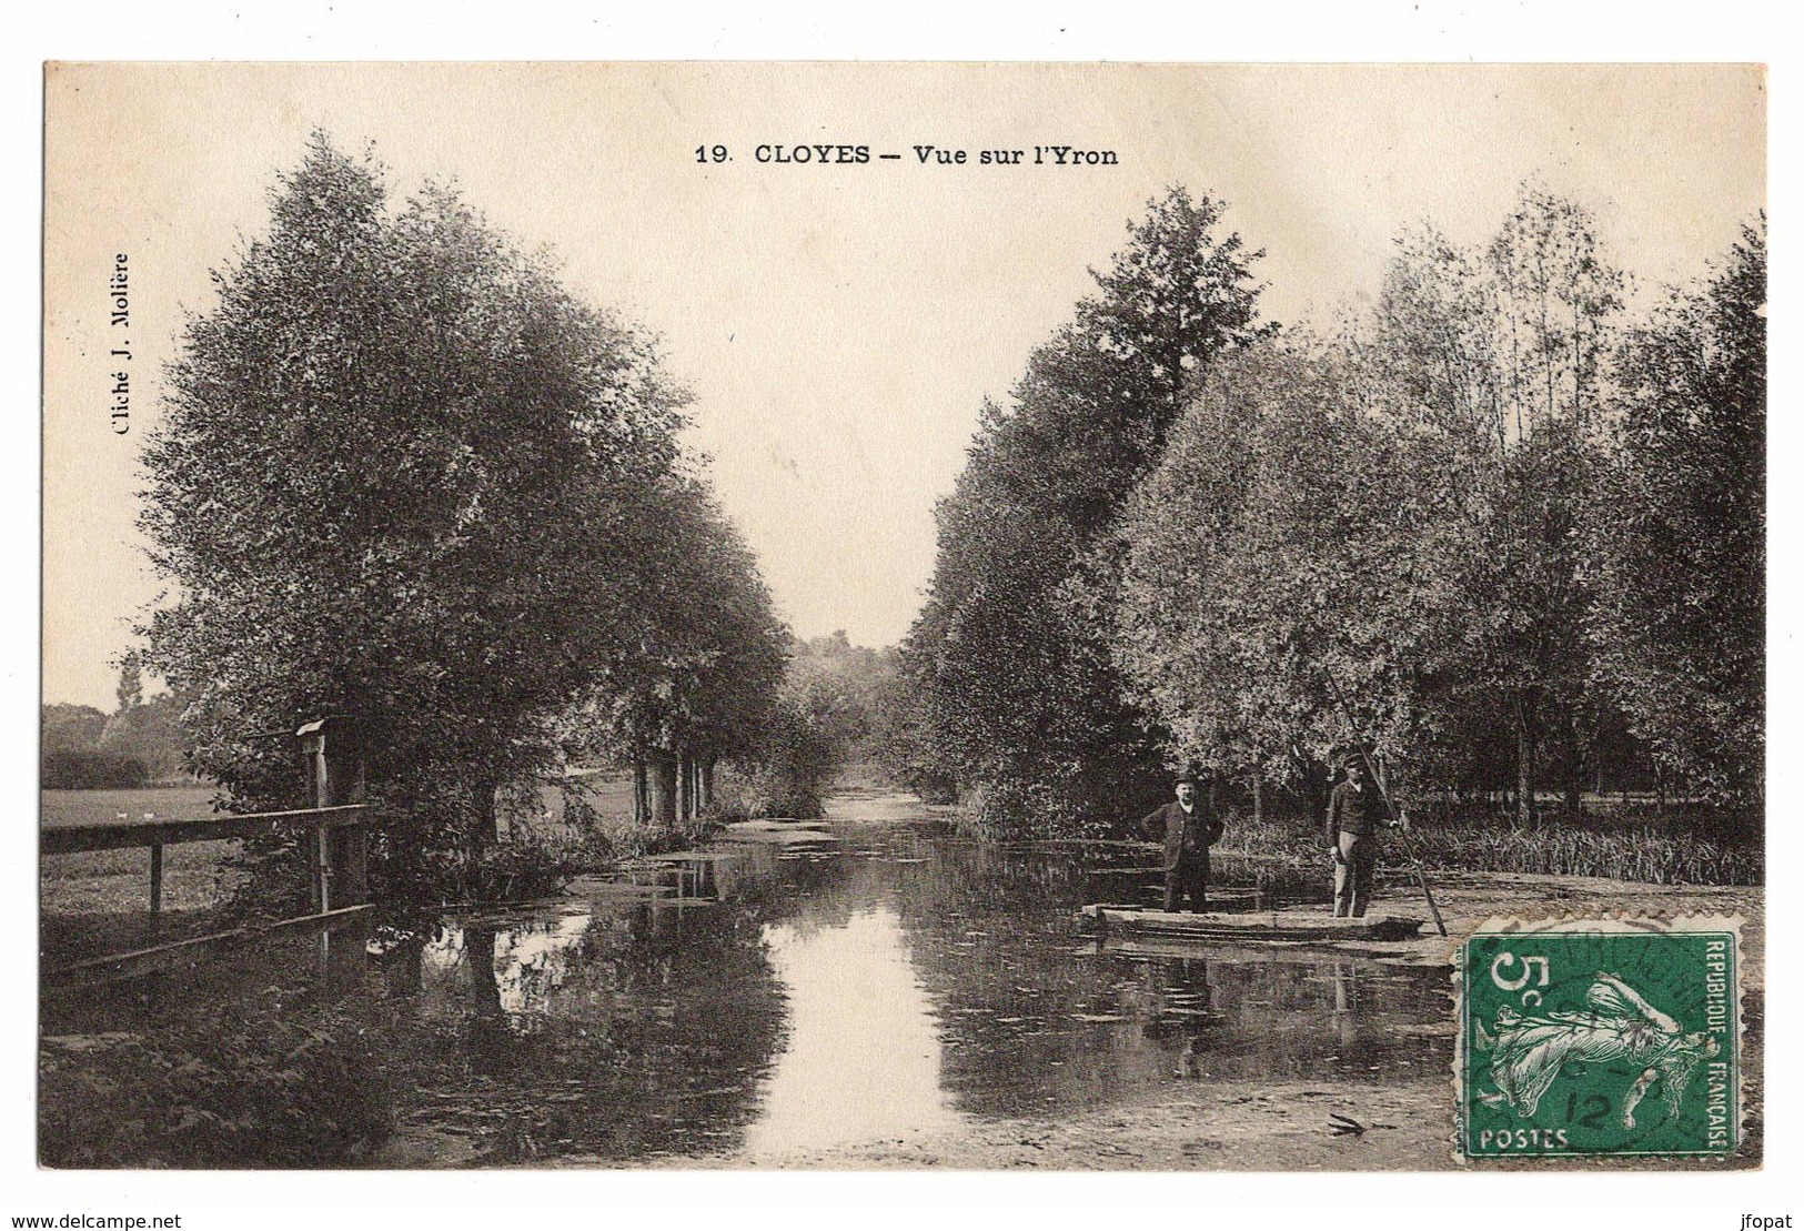
[[[915,774],[1095,828],[1178,764],[1319,796],[1357,726],[1523,819],[1636,756],[1759,803],[1763,227],[1631,321],[1586,213],[1524,190],[1319,338],[1256,323],[1220,218],[1155,202],[985,408],[906,644]]]

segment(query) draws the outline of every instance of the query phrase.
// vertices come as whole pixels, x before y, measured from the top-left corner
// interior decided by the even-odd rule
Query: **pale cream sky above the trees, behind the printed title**
[[[888,644],[983,399],[1007,399],[1165,186],[1229,202],[1284,323],[1369,300],[1400,229],[1481,242],[1524,179],[1588,206],[1654,287],[1701,274],[1764,206],[1764,110],[1761,70],[1708,65],[54,67],[43,697],[114,706],[112,659],[159,594],[133,493],[161,368],[314,128],[370,143],[397,195],[455,179],[572,291],[657,332],[783,616]],[[870,161],[758,159],[815,143]],[[714,144],[729,162],[698,161]],[[922,164],[927,144],[967,162]],[[1115,162],[1034,166],[1052,144]],[[108,415],[119,253],[126,435]]]

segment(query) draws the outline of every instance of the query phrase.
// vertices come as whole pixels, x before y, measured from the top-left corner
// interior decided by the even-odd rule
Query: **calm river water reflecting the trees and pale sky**
[[[577,884],[381,928],[330,993],[406,1052],[379,1161],[756,1162],[971,1117],[1059,1119],[1160,1083],[1445,1072],[1429,1025],[1447,1020],[1441,969],[1104,948],[1075,910],[1146,899],[1144,856],[978,847],[897,798],[832,809],[713,843],[702,902]],[[310,964],[308,942],[287,953]],[[269,978],[235,962],[202,984],[49,1002],[45,1032],[207,1029],[209,998]]]

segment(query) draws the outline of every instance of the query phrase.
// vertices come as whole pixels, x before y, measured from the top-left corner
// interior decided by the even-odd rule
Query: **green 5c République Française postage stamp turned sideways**
[[[1492,921],[1459,948],[1459,1153],[1741,1143],[1739,919]]]

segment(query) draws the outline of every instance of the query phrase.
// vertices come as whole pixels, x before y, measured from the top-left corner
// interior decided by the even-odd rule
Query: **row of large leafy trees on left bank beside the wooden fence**
[[[754,744],[787,632],[649,336],[323,135],[213,280],[144,451],[143,634],[236,807],[292,803],[283,733],[354,717],[397,888],[572,754]]]

